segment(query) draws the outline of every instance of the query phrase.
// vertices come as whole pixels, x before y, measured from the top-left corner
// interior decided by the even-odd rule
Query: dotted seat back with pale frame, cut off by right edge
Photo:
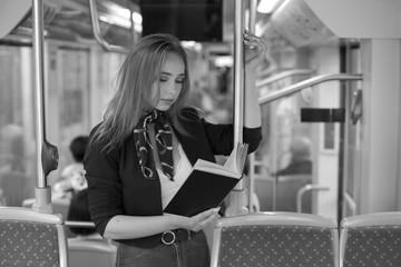
[[[342,267],[401,266],[401,212],[345,217],[340,228]]]

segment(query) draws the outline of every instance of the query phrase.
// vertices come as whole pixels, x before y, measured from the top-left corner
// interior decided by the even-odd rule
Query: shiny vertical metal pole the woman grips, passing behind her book
[[[244,122],[244,4],[235,0],[234,21],[234,145],[243,144]],[[226,216],[246,214],[245,180],[242,179],[229,196]]]

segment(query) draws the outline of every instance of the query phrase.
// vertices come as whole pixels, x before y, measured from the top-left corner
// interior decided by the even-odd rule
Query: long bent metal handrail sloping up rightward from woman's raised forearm
[[[278,98],[290,96],[294,92],[301,91],[305,88],[316,86],[325,81],[332,81],[332,80],[345,81],[345,80],[362,80],[362,79],[363,79],[362,75],[349,75],[349,73],[316,76],[311,79],[306,79],[304,81],[300,81],[297,83],[283,88],[280,91],[272,92],[268,96],[261,97],[260,105],[268,103]]]

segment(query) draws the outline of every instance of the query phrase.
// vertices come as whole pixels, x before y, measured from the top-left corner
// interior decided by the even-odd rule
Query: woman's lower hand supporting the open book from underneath
[[[199,231],[216,218],[218,210],[219,208],[212,208],[200,214],[194,215],[193,217],[185,217],[172,214],[165,215],[175,217],[174,220],[176,221],[176,228]]]

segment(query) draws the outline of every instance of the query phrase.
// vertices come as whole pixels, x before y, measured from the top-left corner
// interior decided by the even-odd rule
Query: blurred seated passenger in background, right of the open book
[[[312,175],[311,141],[306,137],[295,137],[290,146],[288,166],[276,172],[276,176]]]

